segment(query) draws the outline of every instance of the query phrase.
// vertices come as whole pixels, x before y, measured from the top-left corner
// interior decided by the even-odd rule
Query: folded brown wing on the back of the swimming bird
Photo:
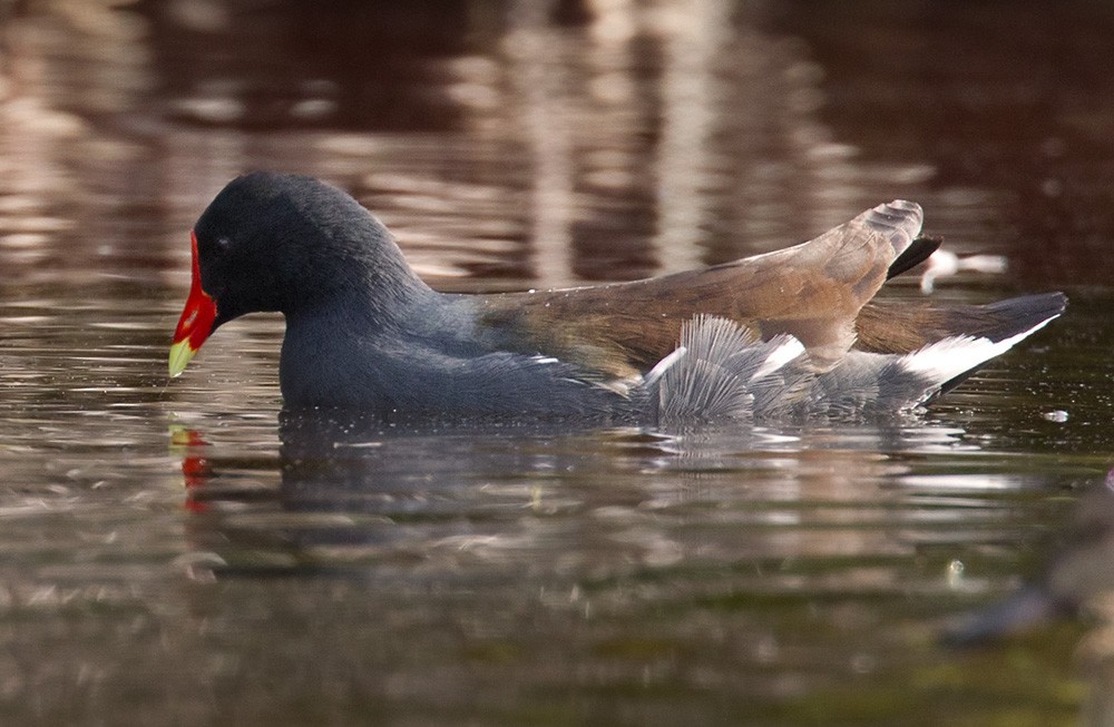
[[[769,338],[789,333],[828,370],[854,342],[854,320],[921,226],[920,207],[893,202],[808,243],[674,275],[486,296],[481,322],[500,345],[576,363],[602,376],[637,375],[673,351],[681,325],[704,313]]]

